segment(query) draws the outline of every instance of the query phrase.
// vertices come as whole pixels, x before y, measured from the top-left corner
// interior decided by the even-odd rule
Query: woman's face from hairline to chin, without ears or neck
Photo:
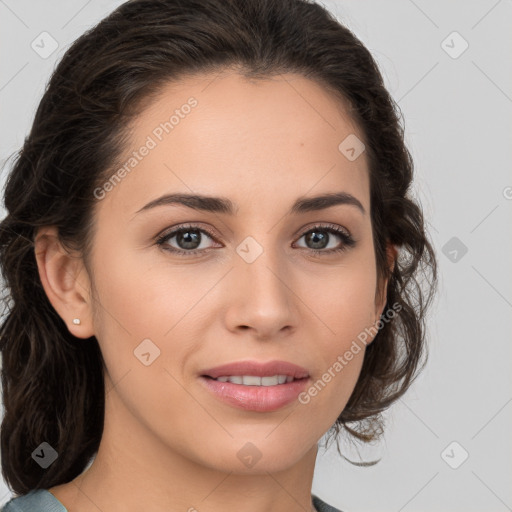
[[[125,172],[98,191],[95,212],[92,307],[109,425],[235,472],[289,467],[332,426],[364,347],[344,354],[383,306],[366,155],[339,149],[353,135],[363,139],[343,105],[295,74],[189,78],[140,114]],[[353,199],[293,208],[334,193]],[[168,194],[226,204],[151,205]],[[268,387],[204,376],[240,361],[284,361],[307,376]],[[261,457],[254,469],[241,463],[244,446]]]

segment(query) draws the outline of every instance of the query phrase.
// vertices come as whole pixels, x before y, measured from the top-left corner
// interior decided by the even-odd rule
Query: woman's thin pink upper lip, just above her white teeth
[[[254,375],[256,377],[286,375],[294,379],[309,377],[309,373],[305,368],[293,363],[288,363],[287,361],[268,361],[266,363],[260,363],[258,361],[235,361],[204,370],[201,372],[201,375],[214,379],[233,375]]]

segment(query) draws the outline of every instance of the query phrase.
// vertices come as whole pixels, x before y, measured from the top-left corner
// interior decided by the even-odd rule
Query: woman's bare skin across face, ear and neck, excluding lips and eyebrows
[[[349,161],[338,150],[349,134],[363,139],[343,105],[295,74],[187,78],[136,118],[126,155],[190,96],[198,101],[191,113],[97,202],[92,276],[54,227],[37,236],[49,300],[73,335],[96,336],[107,368],[96,459],[50,488],[69,512],[311,510],[317,442],[344,409],[364,349],[308,404],[273,412],[220,402],[198,374],[282,359],[316,382],[385,306],[387,283],[376,296],[366,154]],[[366,214],[347,204],[289,213],[300,196],[334,191],[355,196]],[[238,211],[165,205],[135,214],[170,192],[224,196]],[[186,223],[213,231],[215,240],[200,235],[209,251],[181,256],[155,244]],[[314,255],[304,234],[318,223],[348,230],[356,245]],[[248,236],[263,249],[252,263],[236,252]],[[328,248],[343,244],[328,236]],[[187,250],[176,237],[167,247]],[[134,356],[146,338],[160,350],[149,366]],[[250,468],[237,457],[247,442],[261,454]]]

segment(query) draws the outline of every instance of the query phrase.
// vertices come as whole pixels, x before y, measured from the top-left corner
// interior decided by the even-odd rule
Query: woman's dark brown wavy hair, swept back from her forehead
[[[171,81],[228,68],[252,80],[300,73],[348,106],[364,135],[379,282],[389,278],[387,308],[399,305],[400,312],[367,347],[359,380],[330,432],[344,429],[362,442],[379,438],[382,412],[426,362],[436,258],[421,208],[410,197],[413,161],[401,113],[367,48],[309,0],[131,0],[66,51],[29,135],[11,155],[7,216],[0,223],[0,447],[4,479],[17,494],[82,473],[98,450],[104,421],[98,342],[75,338],[50,304],[34,235],[56,226],[92,276],[93,191],[113,174],[129,122]],[[392,270],[388,241],[400,247]],[[31,456],[44,441],[59,454],[47,469]]]

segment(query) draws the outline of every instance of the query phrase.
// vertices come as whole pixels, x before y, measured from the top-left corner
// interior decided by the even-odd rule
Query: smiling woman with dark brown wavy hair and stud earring
[[[78,38],[5,190],[3,510],[336,511],[319,440],[378,439],[424,361],[412,170],[315,3],[132,0]]]

